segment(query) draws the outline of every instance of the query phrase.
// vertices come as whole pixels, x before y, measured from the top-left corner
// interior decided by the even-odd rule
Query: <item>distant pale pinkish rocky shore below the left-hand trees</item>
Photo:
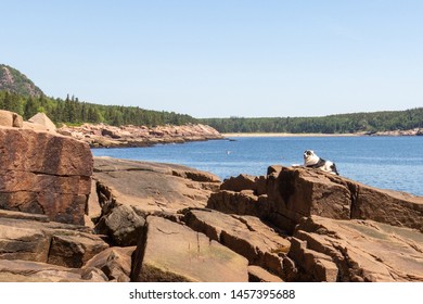
[[[120,126],[85,124],[80,127],[63,126],[57,131],[89,143],[91,147],[149,147],[157,143],[182,143],[222,139],[214,128],[202,124],[183,126]]]

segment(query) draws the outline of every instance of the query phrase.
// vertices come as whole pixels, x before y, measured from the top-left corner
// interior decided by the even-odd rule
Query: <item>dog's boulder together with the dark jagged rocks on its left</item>
[[[303,167],[272,166],[266,177],[255,180],[247,179],[244,187],[234,186],[233,178],[225,181],[221,189],[226,190],[214,193],[207,206],[226,213],[257,215],[287,232],[293,232],[303,217],[311,215],[372,219],[423,231],[422,197],[376,189]]]

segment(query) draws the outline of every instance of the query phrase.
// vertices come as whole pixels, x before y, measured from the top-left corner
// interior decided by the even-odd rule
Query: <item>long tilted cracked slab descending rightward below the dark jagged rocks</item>
[[[192,210],[185,214],[184,220],[193,230],[245,256],[249,264],[282,274],[282,262],[278,254],[287,253],[291,242],[259,218],[211,210]]]

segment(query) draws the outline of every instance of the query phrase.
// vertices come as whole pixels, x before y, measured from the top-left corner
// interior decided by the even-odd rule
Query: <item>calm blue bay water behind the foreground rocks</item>
[[[151,148],[93,149],[95,156],[187,165],[221,179],[266,175],[269,165],[303,163],[313,150],[342,176],[383,189],[423,195],[423,137],[246,137],[159,144]]]

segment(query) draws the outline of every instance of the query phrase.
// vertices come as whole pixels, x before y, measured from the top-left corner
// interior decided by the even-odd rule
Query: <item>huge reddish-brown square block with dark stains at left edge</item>
[[[0,208],[84,224],[93,166],[87,143],[0,127]]]

